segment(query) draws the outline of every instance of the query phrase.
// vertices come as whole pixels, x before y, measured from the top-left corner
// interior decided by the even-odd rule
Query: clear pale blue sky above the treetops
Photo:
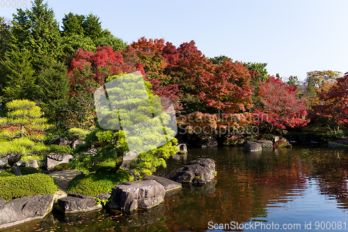
[[[300,80],[313,70],[348,72],[347,0],[44,2],[60,26],[64,14],[93,13],[103,29],[128,43],[142,36],[175,46],[195,40],[207,57],[268,63],[270,75]],[[0,8],[8,19],[16,12]]]

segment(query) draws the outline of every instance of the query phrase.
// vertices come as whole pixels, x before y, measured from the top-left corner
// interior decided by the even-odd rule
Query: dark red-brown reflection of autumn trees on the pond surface
[[[252,155],[242,153],[240,148],[207,149],[205,153],[197,149],[197,153],[189,153],[187,161],[197,157],[216,160],[215,192],[200,196],[183,188],[166,197],[166,219],[151,225],[151,229],[206,231],[208,222],[228,224],[266,219],[267,210],[275,202],[288,203],[292,197],[301,195],[308,187],[308,178],[315,179],[324,194],[334,196],[343,208],[348,208],[347,152],[293,148]],[[182,164],[168,167],[172,170]],[[151,231],[146,230],[150,227],[141,226],[141,230]]]

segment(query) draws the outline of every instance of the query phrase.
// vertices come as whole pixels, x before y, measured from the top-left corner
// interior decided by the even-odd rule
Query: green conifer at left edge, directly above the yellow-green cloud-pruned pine
[[[13,49],[0,61],[0,95],[3,102],[18,99],[33,99],[35,91],[34,70],[31,53]]]

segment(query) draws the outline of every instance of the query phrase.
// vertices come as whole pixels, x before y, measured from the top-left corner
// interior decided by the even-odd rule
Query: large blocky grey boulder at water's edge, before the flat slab
[[[124,182],[113,187],[110,208],[132,211],[136,208],[152,208],[164,201],[166,190],[155,180]]]

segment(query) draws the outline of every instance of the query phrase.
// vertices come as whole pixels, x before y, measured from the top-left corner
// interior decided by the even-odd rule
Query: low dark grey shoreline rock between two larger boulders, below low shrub
[[[58,210],[65,213],[86,212],[102,208],[93,196],[83,194],[68,194],[57,200]]]

